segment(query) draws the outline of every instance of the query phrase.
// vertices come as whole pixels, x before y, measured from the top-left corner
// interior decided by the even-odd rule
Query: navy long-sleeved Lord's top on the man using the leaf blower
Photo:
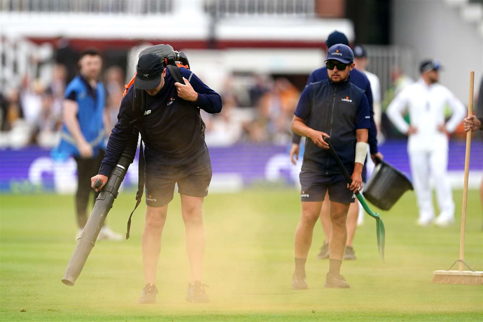
[[[178,97],[174,80],[166,70],[165,84],[155,96],[145,93],[145,112],[142,117],[142,129],[145,137],[144,155],[146,169],[149,172],[153,163],[156,165],[185,165],[198,160],[202,154],[208,155],[204,141],[204,123],[199,109],[208,113],[221,112],[221,97],[205,85],[191,71],[180,68],[181,74],[198,93],[196,102],[189,102]],[[109,176],[125,143],[132,135],[134,124],[128,124],[134,118],[132,111],[133,88],[131,86],[126,97],[121,101],[114,126],[106,147],[106,154],[99,174]],[[150,173],[150,175],[156,175]]]

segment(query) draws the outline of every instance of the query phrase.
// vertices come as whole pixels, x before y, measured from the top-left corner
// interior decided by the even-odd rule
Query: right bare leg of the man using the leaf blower
[[[185,222],[186,252],[191,272],[191,283],[201,280],[205,253],[205,230],[203,227],[204,197],[181,196],[181,212]]]

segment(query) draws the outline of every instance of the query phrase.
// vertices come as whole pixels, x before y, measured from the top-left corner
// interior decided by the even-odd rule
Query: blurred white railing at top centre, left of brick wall
[[[315,16],[315,0],[205,0],[204,7],[216,17]]]

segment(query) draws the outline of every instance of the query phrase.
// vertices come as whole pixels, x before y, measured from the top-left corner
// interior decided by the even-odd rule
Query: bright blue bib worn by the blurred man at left
[[[65,99],[78,104],[77,120],[85,140],[92,146],[94,155],[105,149],[103,112],[105,106],[105,91],[101,82],[93,88],[82,75],[77,75],[67,85]],[[65,124],[62,125],[60,142],[52,151],[56,159],[66,159],[69,156],[79,156],[77,144]]]

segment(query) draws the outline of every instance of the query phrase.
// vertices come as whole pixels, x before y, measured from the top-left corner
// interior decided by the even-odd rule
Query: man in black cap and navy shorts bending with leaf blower
[[[142,232],[142,261],[146,285],[139,298],[139,303],[143,304],[156,301],[156,266],[161,249],[161,233],[175,183],[178,183],[181,196],[186,251],[191,272],[186,301],[209,302],[200,281],[205,248],[201,210],[203,199],[208,195],[212,168],[204,140],[205,126],[199,109],[218,113],[221,111],[222,101],[193,72],[183,67],[179,71],[185,84],[175,82],[175,77],[179,76],[171,75],[156,54],[149,53],[139,58],[134,85],[129,88],[121,102],[118,122],[109,138],[99,174],[91,179],[92,187],[98,179],[103,180],[103,185],[107,182],[131,137],[135,121],[139,121],[134,115],[132,105],[134,93],[138,93],[136,89],[141,90],[139,93],[143,96],[144,111],[140,117],[140,130],[142,141],[146,145],[144,178],[147,205]]]

